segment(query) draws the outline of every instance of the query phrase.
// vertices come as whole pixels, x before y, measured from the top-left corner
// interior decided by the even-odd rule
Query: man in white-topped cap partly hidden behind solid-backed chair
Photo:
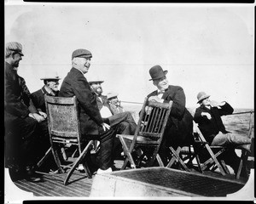
[[[46,113],[44,94],[51,96],[58,96],[59,94],[59,80],[61,79],[56,74],[44,78],[40,78],[44,81],[44,87],[40,88],[31,94],[33,104],[36,106],[38,111]]]

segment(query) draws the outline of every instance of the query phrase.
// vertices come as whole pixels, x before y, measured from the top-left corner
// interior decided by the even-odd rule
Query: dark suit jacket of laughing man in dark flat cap
[[[96,94],[90,89],[90,85],[83,73],[75,68],[67,73],[64,78],[59,96],[78,99],[79,120],[82,134],[99,134],[102,124],[102,116],[97,107]]]

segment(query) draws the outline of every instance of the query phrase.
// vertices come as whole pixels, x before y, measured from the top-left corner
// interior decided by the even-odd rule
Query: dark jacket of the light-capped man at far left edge
[[[24,78],[17,74],[9,63],[4,67],[4,120],[13,121],[17,117],[25,118],[30,112],[38,112],[30,98]]]

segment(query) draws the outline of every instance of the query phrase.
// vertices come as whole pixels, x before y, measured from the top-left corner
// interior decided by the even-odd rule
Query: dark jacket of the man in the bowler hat
[[[157,95],[157,90],[148,97]],[[172,110],[166,125],[165,138],[167,145],[190,144],[193,141],[193,116],[186,109],[186,97],[183,88],[170,85],[162,96],[164,103],[173,101]]]

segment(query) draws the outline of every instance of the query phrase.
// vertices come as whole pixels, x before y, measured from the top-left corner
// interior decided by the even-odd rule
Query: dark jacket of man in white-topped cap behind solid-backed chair
[[[38,91],[35,91],[31,94],[32,102],[38,109],[38,111],[43,111],[46,113],[46,107],[44,102],[44,94],[50,95],[45,88],[41,88]],[[58,96],[59,91],[55,93],[55,96]]]

